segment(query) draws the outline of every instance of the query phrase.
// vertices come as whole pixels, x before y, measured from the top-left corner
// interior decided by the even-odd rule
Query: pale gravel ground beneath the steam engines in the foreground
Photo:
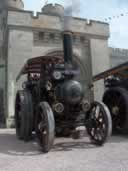
[[[35,141],[24,143],[14,130],[0,130],[0,171],[128,171],[128,137],[113,136],[103,147],[87,137],[61,138],[43,154]]]

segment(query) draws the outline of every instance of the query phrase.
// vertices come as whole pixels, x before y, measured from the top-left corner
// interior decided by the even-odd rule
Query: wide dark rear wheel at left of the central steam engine
[[[18,139],[28,141],[33,129],[32,97],[29,91],[17,92],[15,102],[15,125]]]

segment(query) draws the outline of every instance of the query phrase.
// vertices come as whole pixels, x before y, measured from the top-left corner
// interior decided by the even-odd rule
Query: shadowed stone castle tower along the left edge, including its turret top
[[[7,59],[7,49],[8,44],[7,32],[5,32],[8,20],[8,11],[16,10],[20,12],[24,9],[24,4],[22,0],[0,0],[0,125],[5,124],[7,113],[7,91],[6,91],[6,80],[7,80],[7,65],[5,59]],[[8,13],[8,15],[7,15]],[[5,43],[6,40],[6,43]],[[5,45],[5,44],[6,45]]]

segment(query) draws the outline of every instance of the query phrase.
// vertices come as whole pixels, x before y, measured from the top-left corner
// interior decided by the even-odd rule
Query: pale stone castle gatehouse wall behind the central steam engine
[[[11,118],[14,117],[15,93],[17,89],[21,89],[21,83],[25,79],[23,77],[16,83],[16,76],[25,61],[31,57],[63,51],[64,17],[61,11],[63,9],[61,8],[58,13],[55,13],[56,9],[47,13],[51,7],[53,5],[45,7],[45,10],[48,8],[46,11],[43,8],[42,13],[37,13],[37,16],[34,16],[31,11],[14,8],[0,14],[0,25],[2,26],[0,27],[0,66],[5,66],[0,72],[0,79],[3,80],[2,77],[5,79],[4,84],[0,82],[0,87],[4,88],[4,106],[8,126],[12,122]],[[127,61],[127,50],[108,48],[108,24],[72,18],[70,29],[73,31],[74,56],[80,63],[84,75],[83,81],[87,85],[91,82],[92,75]],[[103,92],[103,80],[96,82],[94,85],[95,99],[101,100]]]

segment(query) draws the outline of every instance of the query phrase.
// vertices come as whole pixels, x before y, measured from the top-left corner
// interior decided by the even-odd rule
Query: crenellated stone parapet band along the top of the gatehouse
[[[25,28],[37,28],[37,29],[52,29],[63,30],[64,17],[47,15],[44,13],[37,13],[37,16],[33,15],[31,11],[8,11],[8,25],[25,27]],[[71,31],[75,33],[101,36],[101,38],[107,39],[109,37],[109,25],[104,22],[86,20],[73,17],[71,19]]]

